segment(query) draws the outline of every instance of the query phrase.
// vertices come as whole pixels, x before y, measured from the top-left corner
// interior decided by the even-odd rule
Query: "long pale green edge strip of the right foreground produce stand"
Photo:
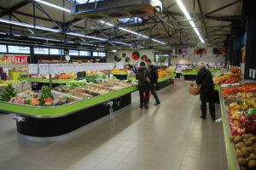
[[[221,88],[218,88],[218,96],[219,96],[219,103],[220,103],[220,109],[221,109],[221,116],[222,116],[223,130],[224,130],[224,143],[225,143],[228,166],[230,170],[239,170],[240,167],[238,165],[238,162],[236,161],[235,146],[230,142],[230,136],[231,136],[230,125],[229,125],[226,110],[225,110],[224,99],[222,96]]]

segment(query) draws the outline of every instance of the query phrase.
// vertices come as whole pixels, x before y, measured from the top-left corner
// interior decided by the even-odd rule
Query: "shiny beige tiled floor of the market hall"
[[[139,109],[136,92],[115,122],[100,122],[56,142],[20,139],[12,115],[0,115],[0,169],[228,169],[222,123],[199,118],[198,96],[188,94],[187,84],[176,80],[158,94],[160,106],[151,99],[148,110]]]

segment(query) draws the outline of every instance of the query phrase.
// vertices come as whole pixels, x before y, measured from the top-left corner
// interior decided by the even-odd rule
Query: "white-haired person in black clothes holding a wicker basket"
[[[201,84],[201,118],[206,119],[207,117],[207,102],[209,103],[210,115],[212,121],[215,121],[215,105],[213,101],[214,84],[212,81],[212,73],[205,67],[204,62],[198,63],[198,74],[196,83]]]

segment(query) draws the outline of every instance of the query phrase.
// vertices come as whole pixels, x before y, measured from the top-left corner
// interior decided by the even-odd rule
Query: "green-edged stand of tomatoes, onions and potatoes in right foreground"
[[[256,86],[251,82],[218,89],[226,156],[231,170],[256,167],[254,153],[256,131],[253,125],[256,108],[255,92]],[[251,127],[247,127],[247,124]],[[244,150],[247,150],[247,153]]]

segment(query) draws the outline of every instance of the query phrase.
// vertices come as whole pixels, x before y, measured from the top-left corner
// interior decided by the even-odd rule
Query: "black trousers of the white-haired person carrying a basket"
[[[207,116],[207,103],[209,103],[210,115],[215,118],[214,89],[201,89],[201,116]]]

